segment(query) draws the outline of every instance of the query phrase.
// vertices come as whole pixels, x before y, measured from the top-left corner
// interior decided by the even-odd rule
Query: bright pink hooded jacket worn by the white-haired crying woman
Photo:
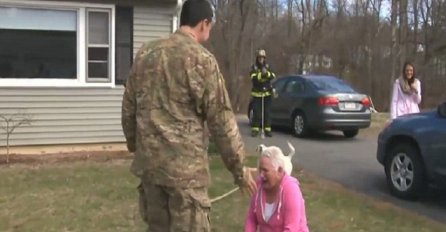
[[[257,193],[251,199],[245,232],[308,232],[305,200],[299,188],[299,181],[289,175],[280,183],[280,196],[271,218],[263,219],[266,195],[261,177],[257,179]],[[257,230],[258,229],[258,230]]]

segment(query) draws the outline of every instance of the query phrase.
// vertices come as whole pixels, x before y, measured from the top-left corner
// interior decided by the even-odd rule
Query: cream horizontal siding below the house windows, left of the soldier
[[[123,92],[123,87],[1,89],[0,113],[32,116],[30,125],[12,134],[11,145],[124,142]],[[2,133],[0,146],[5,144]]]

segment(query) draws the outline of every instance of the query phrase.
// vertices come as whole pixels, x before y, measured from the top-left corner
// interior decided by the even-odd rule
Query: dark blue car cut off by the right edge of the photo
[[[446,102],[393,120],[378,136],[377,160],[399,198],[416,199],[429,183],[446,186]]]

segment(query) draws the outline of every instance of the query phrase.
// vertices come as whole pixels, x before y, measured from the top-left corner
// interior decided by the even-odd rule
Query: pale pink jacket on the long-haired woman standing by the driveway
[[[405,114],[420,112],[418,104],[421,102],[421,83],[415,80],[415,86],[418,94],[405,94],[401,90],[399,79],[395,80],[392,91],[392,102],[390,103],[390,117],[395,119]]]

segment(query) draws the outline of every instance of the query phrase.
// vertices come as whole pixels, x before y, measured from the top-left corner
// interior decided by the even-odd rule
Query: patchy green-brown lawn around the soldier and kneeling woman
[[[250,160],[253,163],[253,160]],[[0,166],[0,231],[143,231],[138,180],[129,160]],[[232,189],[230,174],[212,156],[211,197]],[[350,192],[310,174],[301,180],[310,230],[446,231],[446,226]],[[248,198],[239,192],[214,203],[215,231],[242,231]]]

